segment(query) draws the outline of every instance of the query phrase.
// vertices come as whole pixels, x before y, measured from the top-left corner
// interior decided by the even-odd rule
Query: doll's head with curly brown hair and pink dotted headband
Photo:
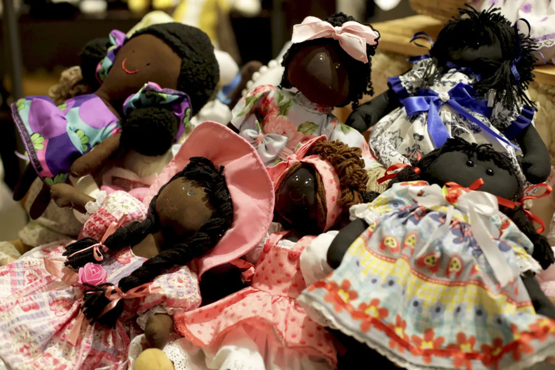
[[[319,234],[363,201],[368,175],[360,148],[326,136],[307,141],[286,161],[268,169],[275,212],[296,230]]]

